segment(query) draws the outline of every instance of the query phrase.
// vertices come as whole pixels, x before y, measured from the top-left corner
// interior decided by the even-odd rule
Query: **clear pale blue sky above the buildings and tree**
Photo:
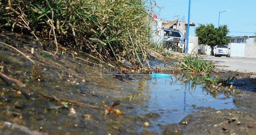
[[[161,9],[154,7],[158,18],[164,20],[188,21],[189,0],[155,0]],[[231,10],[231,12],[222,12]],[[256,32],[256,0],[191,0],[189,36],[195,36],[198,23],[214,24],[218,27],[226,24],[229,29],[228,36],[255,35]]]

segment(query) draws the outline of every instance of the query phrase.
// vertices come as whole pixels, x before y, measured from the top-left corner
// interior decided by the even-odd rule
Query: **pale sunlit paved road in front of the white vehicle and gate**
[[[239,58],[239,57],[214,57],[200,55],[205,60],[211,60],[217,62],[216,68],[223,70],[231,70],[238,72],[256,72],[256,58]]]

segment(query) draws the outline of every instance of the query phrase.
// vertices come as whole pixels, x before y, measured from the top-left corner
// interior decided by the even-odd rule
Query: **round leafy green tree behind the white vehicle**
[[[214,28],[213,24],[205,26],[204,24],[198,24],[199,26],[195,29],[195,34],[198,36],[199,44],[207,44],[214,49],[216,45],[230,43],[231,36],[227,36],[229,29],[227,25],[221,25],[219,28]]]

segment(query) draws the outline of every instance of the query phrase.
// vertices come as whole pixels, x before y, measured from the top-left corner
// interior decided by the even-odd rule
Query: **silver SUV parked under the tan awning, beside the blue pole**
[[[176,29],[163,29],[163,30],[164,30],[164,45],[166,45],[168,49],[173,50],[174,48],[176,48],[176,44],[178,43],[178,49],[184,50],[186,39],[182,32]]]

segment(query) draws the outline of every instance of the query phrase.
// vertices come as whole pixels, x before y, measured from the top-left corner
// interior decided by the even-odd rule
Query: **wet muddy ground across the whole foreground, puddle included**
[[[0,79],[1,134],[256,133],[255,73],[216,73],[238,79],[241,92],[227,97],[192,83],[188,73],[172,70],[171,77],[151,78],[141,69],[125,76],[83,52],[59,49],[48,55],[54,45],[42,42],[43,47],[24,35],[2,32],[0,41],[35,62],[0,46],[2,73],[26,85]],[[164,63],[170,60],[161,60],[151,60],[152,67],[168,68]],[[115,102],[120,104],[108,108]]]

